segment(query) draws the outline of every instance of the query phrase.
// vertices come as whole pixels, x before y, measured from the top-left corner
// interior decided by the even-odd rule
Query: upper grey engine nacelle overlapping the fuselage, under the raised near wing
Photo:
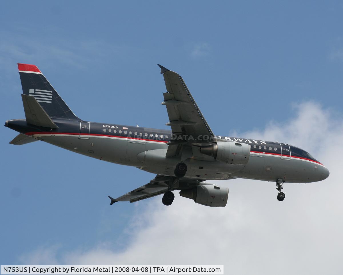
[[[246,143],[218,141],[208,146],[202,146],[200,153],[213,156],[220,162],[246,165],[250,156],[250,148],[250,145]]]

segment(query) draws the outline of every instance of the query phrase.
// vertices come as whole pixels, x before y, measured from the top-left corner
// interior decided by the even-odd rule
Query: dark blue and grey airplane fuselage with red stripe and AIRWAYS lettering
[[[233,165],[184,148],[166,158],[172,132],[111,123],[54,119],[59,127],[49,129],[27,124],[25,119],[9,120],[7,127],[64,149],[116,164],[173,176],[180,161],[188,166],[185,177],[198,180],[232,178],[286,182],[315,182],[328,177],[328,169],[306,151],[288,144],[256,139],[216,136],[218,140],[251,145],[246,165]]]

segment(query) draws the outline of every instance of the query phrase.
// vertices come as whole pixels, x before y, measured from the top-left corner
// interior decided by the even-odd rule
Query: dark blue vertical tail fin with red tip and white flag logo
[[[31,95],[51,118],[80,120],[35,65],[18,63],[23,94]]]

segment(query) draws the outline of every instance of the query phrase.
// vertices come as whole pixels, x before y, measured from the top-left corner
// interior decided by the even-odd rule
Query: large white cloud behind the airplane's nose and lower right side
[[[342,114],[316,103],[294,105],[294,117],[270,122],[240,136],[279,140],[304,148],[330,170],[310,184],[284,184],[286,198],[276,200],[274,182],[235,179],[224,208],[195,204],[176,196],[139,202],[132,217],[131,240],[124,251],[113,243],[90,249],[47,249],[61,264],[223,264],[225,274],[342,274],[343,204],[340,198]],[[114,205],[115,207],[115,205]],[[138,209],[142,209],[138,207]],[[44,249],[43,249],[44,250]],[[55,252],[55,253],[54,253]],[[61,254],[59,258],[57,255]],[[42,248],[23,255],[23,264],[42,261]],[[50,263],[49,258],[43,258]]]

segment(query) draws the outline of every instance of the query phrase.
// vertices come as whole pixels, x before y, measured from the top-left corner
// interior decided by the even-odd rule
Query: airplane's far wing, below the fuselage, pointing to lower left
[[[110,198],[111,200],[111,205],[114,204],[115,202],[124,202],[124,201],[137,202],[137,201],[144,200],[147,198],[152,198],[154,196],[164,194],[166,191],[168,191],[168,182],[170,180],[174,181],[176,180],[176,178],[157,175],[149,183],[139,188],[136,188],[132,190],[131,192],[118,197],[117,199],[114,199],[110,196],[108,196],[108,198]],[[200,182],[199,180],[180,179],[177,182],[175,182],[175,185],[173,189],[171,190],[176,190],[176,189],[179,189],[180,187],[182,188],[182,186],[186,186],[187,188],[190,188],[191,185],[196,185],[199,182]]]

